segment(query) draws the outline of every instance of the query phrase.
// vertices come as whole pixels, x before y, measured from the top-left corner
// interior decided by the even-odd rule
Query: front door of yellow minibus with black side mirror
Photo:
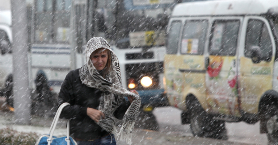
[[[275,42],[268,21],[257,16],[244,20],[244,44],[239,52],[240,109],[256,114],[259,98],[272,89]]]

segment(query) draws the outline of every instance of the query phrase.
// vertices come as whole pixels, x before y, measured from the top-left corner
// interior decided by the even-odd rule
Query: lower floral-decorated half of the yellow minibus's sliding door
[[[206,93],[212,110],[224,114],[236,114],[237,78],[235,57],[210,56]]]

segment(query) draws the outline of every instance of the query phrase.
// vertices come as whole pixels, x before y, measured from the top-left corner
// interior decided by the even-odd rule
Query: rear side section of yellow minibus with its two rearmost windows
[[[204,47],[208,19],[186,19],[181,24],[178,20],[171,22],[164,73],[169,103],[186,110],[183,100],[189,93],[205,102]]]

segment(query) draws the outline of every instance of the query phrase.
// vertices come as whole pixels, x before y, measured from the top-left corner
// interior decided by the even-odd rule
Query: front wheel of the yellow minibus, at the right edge
[[[269,143],[278,143],[278,108],[270,105],[267,109],[266,128]]]

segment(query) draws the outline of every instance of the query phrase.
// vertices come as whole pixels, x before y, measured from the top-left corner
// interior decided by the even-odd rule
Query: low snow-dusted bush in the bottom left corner
[[[0,129],[1,145],[33,145],[39,136],[36,133],[18,132],[11,128]]]

